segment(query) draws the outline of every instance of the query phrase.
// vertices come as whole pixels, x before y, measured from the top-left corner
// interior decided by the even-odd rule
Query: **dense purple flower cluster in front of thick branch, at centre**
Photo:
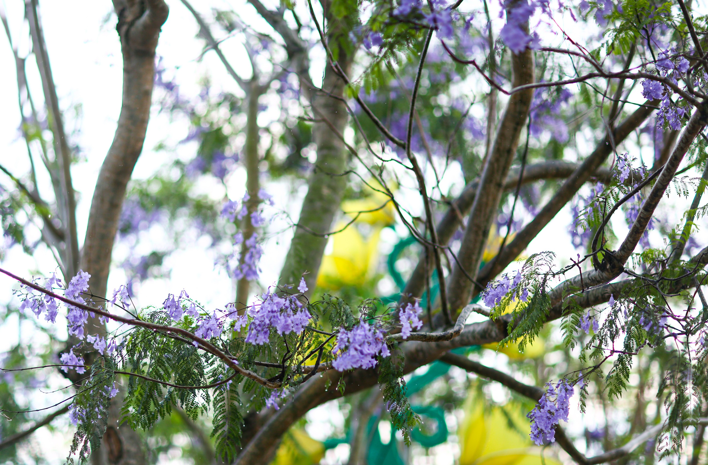
[[[377,355],[391,355],[384,339],[384,331],[363,319],[350,331],[340,329],[332,353],[339,353],[332,366],[341,372],[353,368],[373,368],[377,363]]]

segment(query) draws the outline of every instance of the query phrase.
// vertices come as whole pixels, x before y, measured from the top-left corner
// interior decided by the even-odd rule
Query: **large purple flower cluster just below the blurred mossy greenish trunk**
[[[301,288],[307,290],[302,284],[301,281]],[[270,290],[261,295],[261,304],[258,307],[253,303],[249,315],[252,321],[246,334],[246,342],[258,345],[268,343],[271,326],[275,327],[278,334],[300,334],[312,318],[295,295],[281,298]]]

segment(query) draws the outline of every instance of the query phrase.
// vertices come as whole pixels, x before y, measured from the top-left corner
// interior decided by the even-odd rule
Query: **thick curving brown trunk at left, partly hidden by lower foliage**
[[[91,274],[91,292],[98,296],[106,293],[125,189],[142,152],[152,103],[155,49],[168,15],[163,0],[113,0],[113,6],[118,15],[123,58],[122,107],[113,143],[96,181],[81,254],[81,269]],[[97,321],[89,325],[93,326],[89,326],[89,333],[105,332],[105,327]],[[116,399],[119,397],[112,404],[104,447],[93,453],[91,460],[95,465],[145,464],[142,438],[118,423],[120,404]]]

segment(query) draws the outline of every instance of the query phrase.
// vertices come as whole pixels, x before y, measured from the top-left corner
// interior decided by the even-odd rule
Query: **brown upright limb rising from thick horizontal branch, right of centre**
[[[513,87],[534,81],[534,61],[530,49],[520,54],[512,54],[511,67]],[[452,274],[447,282],[448,302],[453,317],[469,302],[472,294],[472,282],[467,275],[474,277],[479,268],[491,223],[501,201],[504,181],[527,122],[532,98],[532,89],[510,96],[497,129],[493,148],[484,163],[478,188],[478,192],[484,195],[478,195],[474,199],[458,253],[459,264],[452,267]],[[460,266],[464,266],[464,271]]]

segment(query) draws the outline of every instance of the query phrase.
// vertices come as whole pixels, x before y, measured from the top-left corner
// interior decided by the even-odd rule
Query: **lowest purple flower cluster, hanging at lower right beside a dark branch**
[[[554,442],[556,439],[554,427],[561,420],[568,421],[569,401],[573,396],[573,387],[566,379],[561,379],[557,384],[546,383],[546,386],[547,392],[527,415],[531,420],[531,439],[539,446]]]

